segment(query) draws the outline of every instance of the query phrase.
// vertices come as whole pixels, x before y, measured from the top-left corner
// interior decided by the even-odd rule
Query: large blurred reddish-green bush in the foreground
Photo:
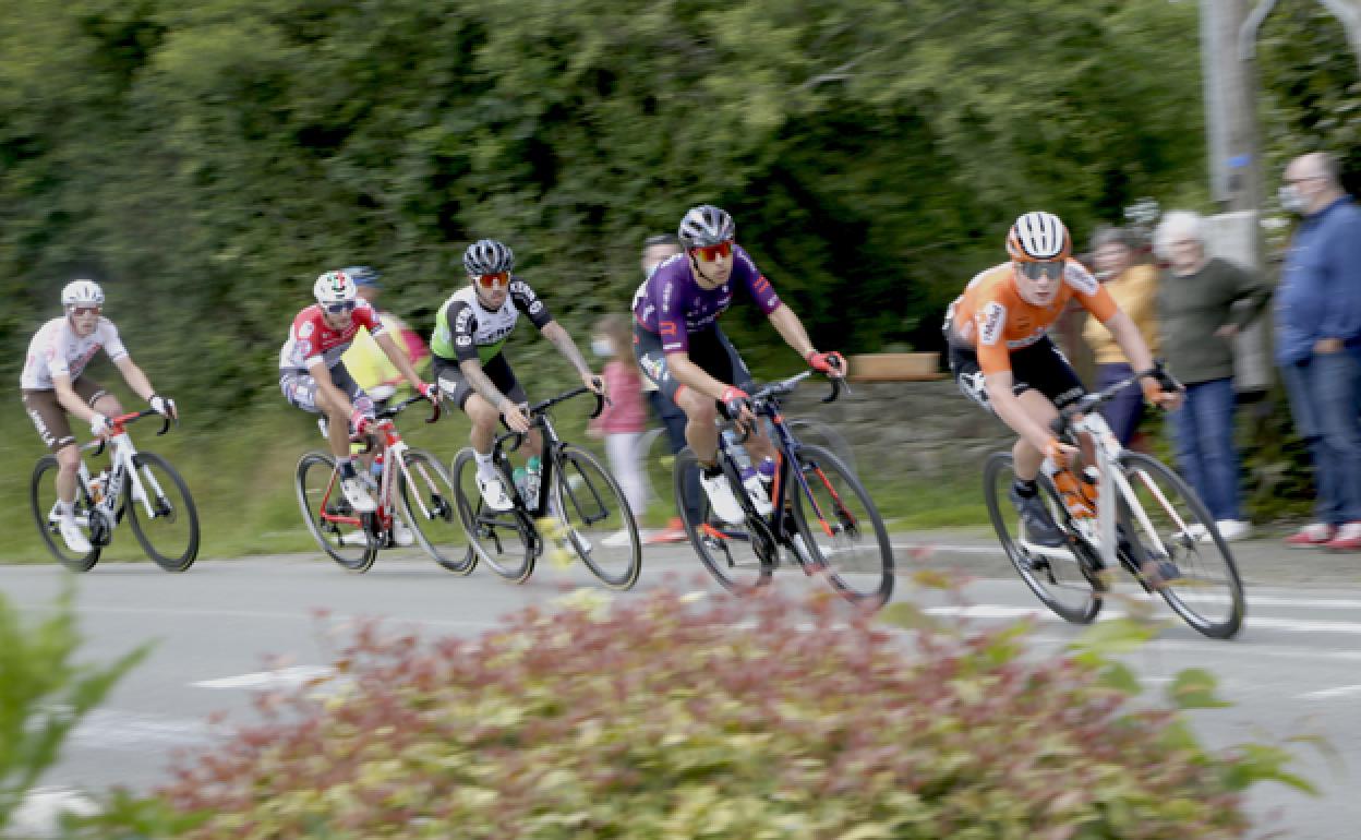
[[[1115,622],[1037,662],[1025,625],[955,634],[900,606],[923,625],[902,634],[840,610],[659,592],[478,640],[369,624],[335,678],[263,702],[159,805],[203,840],[1181,839],[1243,836],[1240,791],[1297,781],[1273,747],[1207,752],[1132,704],[1101,652],[1127,640]],[[1175,683],[1187,705],[1211,689]]]

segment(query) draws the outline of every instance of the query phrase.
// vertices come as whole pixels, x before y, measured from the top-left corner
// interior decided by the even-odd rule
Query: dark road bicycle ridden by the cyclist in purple
[[[762,515],[743,486],[727,434],[719,436],[717,464],[742,502],[743,521],[727,523],[698,493],[698,511],[678,501],[676,511],[705,568],[731,592],[749,594],[766,585],[781,562],[781,549],[806,575],[825,576],[852,603],[878,609],[893,595],[893,546],[874,500],[855,472],[823,447],[798,440],[780,414],[780,398],[811,376],[806,370],[755,391],[749,399],[758,422],[766,421],[776,449],[769,487],[770,512]],[[844,388],[832,378],[836,400]],[[728,423],[721,423],[728,426]],[[736,436],[740,442],[742,434]],[[672,487],[698,481],[698,459],[687,447],[676,456]]]

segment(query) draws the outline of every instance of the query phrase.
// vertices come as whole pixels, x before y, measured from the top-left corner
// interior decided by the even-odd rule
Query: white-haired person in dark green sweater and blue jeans
[[[1271,289],[1256,274],[1206,253],[1199,214],[1162,218],[1153,248],[1166,264],[1158,285],[1162,354],[1187,387],[1172,414],[1177,466],[1225,539],[1244,539],[1239,453],[1233,442],[1233,338],[1266,308]]]

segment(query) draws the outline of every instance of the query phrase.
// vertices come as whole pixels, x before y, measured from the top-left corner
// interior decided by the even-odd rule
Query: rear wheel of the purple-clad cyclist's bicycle
[[[676,455],[672,475],[676,512],[700,561],[729,592],[746,595],[766,585],[774,573],[773,546],[759,546],[762,536],[753,534],[746,524],[723,521],[710,508],[704,490],[700,490],[698,511],[686,511],[682,501],[686,497],[685,489],[687,483],[698,482],[698,470],[700,462],[689,447]],[[746,493],[742,487],[738,491]]]

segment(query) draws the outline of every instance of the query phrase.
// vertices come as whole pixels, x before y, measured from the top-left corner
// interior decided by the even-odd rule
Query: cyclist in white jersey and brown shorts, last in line
[[[118,328],[103,317],[103,290],[94,280],[72,280],[61,290],[65,313],[44,324],[23,362],[19,387],[23,407],[48,449],[57,456],[57,527],[67,547],[88,554],[90,540],[75,520],[76,476],[80,449],[67,415],[90,423],[95,436],[106,434],[109,418],[122,414],[118,398],[83,376],[86,365],[103,350],[128,387],[157,413],[178,417],[174,400],[159,396],[147,374],[133,364],[118,339]]]

